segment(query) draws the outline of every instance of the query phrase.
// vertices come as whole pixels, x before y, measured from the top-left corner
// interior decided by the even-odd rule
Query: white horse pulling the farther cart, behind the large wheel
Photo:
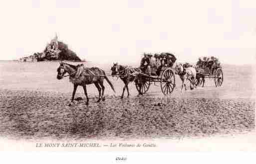
[[[190,85],[191,90],[196,87],[195,80],[197,76],[197,71],[193,67],[184,68],[182,64],[177,64],[175,67],[175,74],[179,75],[182,81],[181,92],[183,89],[183,85],[185,86],[185,90],[187,90],[186,82],[189,80],[192,86]]]

